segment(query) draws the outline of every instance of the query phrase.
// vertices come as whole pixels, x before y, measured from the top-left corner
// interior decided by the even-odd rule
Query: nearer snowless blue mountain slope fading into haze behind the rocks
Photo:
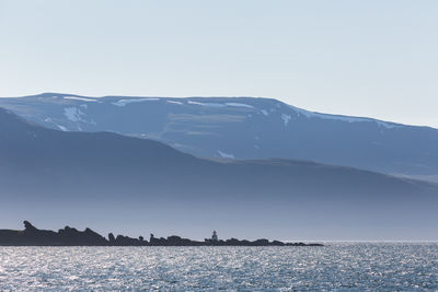
[[[110,106],[110,105],[108,105]],[[211,160],[0,109],[0,221],[280,240],[438,240],[438,186],[293,160]],[[54,223],[56,222],[56,223]]]

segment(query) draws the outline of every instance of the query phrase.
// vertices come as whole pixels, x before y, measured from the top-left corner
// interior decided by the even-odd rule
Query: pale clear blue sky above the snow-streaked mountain
[[[438,127],[435,0],[0,0],[0,96],[265,96]]]

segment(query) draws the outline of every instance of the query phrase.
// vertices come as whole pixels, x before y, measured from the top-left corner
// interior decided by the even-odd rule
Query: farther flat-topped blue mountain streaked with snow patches
[[[438,175],[437,129],[313,113],[269,98],[45,93],[0,98],[0,106],[47,128],[150,138],[199,157],[279,157]]]

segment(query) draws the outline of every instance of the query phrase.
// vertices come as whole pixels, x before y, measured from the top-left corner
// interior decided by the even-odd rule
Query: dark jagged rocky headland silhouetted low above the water
[[[100,235],[91,229],[78,231],[66,226],[58,232],[39,230],[28,221],[24,221],[24,230],[0,230],[0,246],[323,246],[322,244],[284,243],[279,241],[256,240],[239,241],[237,238],[219,240],[216,231],[211,238],[204,242],[182,238],[176,235],[154,237],[150,235],[149,241],[142,236],[132,238],[128,236],[108,234],[108,238]]]

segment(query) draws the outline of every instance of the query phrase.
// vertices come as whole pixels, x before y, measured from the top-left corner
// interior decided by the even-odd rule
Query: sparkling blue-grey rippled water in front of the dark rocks
[[[438,244],[0,247],[0,291],[438,291]]]

